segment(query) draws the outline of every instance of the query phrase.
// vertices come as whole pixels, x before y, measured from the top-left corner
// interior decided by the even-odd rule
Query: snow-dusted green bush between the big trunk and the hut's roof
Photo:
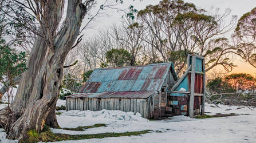
[[[62,80],[62,88],[69,89],[71,92],[78,92],[81,86],[78,78],[70,73],[66,74]]]

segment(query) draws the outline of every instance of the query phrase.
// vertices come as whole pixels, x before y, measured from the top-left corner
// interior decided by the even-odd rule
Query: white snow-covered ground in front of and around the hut
[[[64,101],[58,101],[64,102]],[[153,130],[152,133],[141,136],[94,138],[79,141],[61,142],[256,142],[256,109],[245,106],[225,106],[214,108],[206,104],[207,114],[241,114],[240,116],[195,119],[186,116],[171,117],[170,120],[149,121],[139,114],[102,110],[92,111],[61,111],[57,120],[61,128],[77,128],[94,124],[107,124],[105,127],[86,129],[85,131],[70,131],[51,129],[54,133],[64,134],[96,134],[109,132],[134,132]],[[245,115],[249,114],[249,115]],[[126,117],[126,118],[125,118]],[[128,118],[129,117],[129,118]],[[2,142],[17,142],[5,139],[5,133],[0,130]],[[157,131],[157,132],[155,132]],[[161,133],[160,133],[160,132]]]

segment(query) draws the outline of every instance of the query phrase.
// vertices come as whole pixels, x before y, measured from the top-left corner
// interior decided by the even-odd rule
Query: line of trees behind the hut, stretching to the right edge
[[[228,17],[232,17],[229,22]],[[77,65],[64,69],[74,79],[82,79],[97,67],[118,67],[172,62],[181,76],[187,65],[187,54],[206,59],[206,71],[222,66],[228,73],[236,66],[233,55],[255,67],[255,9],[237,17],[231,10],[198,9],[182,0],[160,1],[138,11],[134,19],[123,18],[120,25],[100,29],[70,51],[66,65],[78,59]],[[232,38],[225,37],[229,31]],[[75,80],[82,82],[84,80]]]

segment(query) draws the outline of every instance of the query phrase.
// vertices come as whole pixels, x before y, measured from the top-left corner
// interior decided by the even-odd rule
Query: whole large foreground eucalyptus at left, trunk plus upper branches
[[[22,139],[27,138],[30,129],[41,132],[45,125],[58,127],[55,109],[64,61],[69,51],[81,41],[78,35],[82,30],[82,20],[96,1],[11,2],[22,6],[33,17],[20,18],[30,24],[23,27],[37,35],[27,62],[28,69],[19,82],[13,110],[11,113],[7,109],[0,112],[0,122],[6,130],[7,138]],[[65,2],[68,3],[64,14]],[[104,5],[99,7],[101,9],[104,9]]]

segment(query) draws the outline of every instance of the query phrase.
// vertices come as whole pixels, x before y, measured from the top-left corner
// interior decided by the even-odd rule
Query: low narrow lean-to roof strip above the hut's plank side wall
[[[76,93],[67,98],[148,98],[155,92],[101,92],[101,93]]]

